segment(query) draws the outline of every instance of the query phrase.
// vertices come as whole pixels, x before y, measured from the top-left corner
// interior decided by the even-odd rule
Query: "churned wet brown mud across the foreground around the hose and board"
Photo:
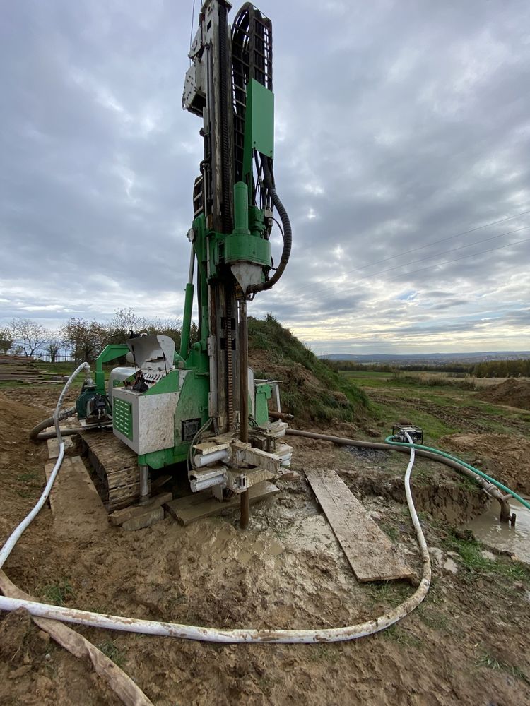
[[[45,449],[31,445],[27,432],[56,396],[57,388],[0,393],[0,542],[42,490]],[[481,433],[478,426],[473,432]],[[363,434],[345,425],[330,431]],[[137,532],[105,528],[65,541],[54,536],[45,508],[6,573],[47,602],[194,625],[329,627],[384,613],[413,587],[358,584],[303,471],[335,469],[419,571],[400,480],[406,456],[291,441],[300,477],[279,481],[279,496],[251,508],[245,532],[237,513],[225,511],[189,527],[167,517]],[[494,462],[502,472],[502,460]],[[459,530],[485,503],[465,479],[420,460],[413,492],[433,559],[432,588],[419,609],[378,635],[333,645],[221,646],[78,629],[160,706],[530,704],[529,569],[484,554]],[[27,616],[2,614],[1,705],[117,703],[88,664]]]

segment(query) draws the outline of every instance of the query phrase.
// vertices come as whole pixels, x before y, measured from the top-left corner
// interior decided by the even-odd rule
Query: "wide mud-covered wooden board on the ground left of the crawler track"
[[[45,464],[47,479],[54,465]],[[60,537],[91,537],[108,527],[107,511],[80,456],[64,458],[49,493],[49,504],[54,531]]]

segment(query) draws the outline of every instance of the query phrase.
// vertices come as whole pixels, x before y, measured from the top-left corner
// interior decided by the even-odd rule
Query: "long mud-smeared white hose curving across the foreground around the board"
[[[409,441],[412,443],[410,438]],[[399,606],[396,606],[388,613],[379,616],[379,618],[374,618],[365,623],[345,626],[343,628],[322,628],[317,630],[257,630],[256,628],[220,630],[219,628],[202,628],[199,626],[180,625],[179,623],[163,623],[160,621],[141,620],[140,618],[102,615],[90,611],[81,611],[73,608],[52,606],[45,603],[3,596],[0,596],[0,610],[13,611],[18,608],[25,608],[32,615],[53,618],[54,620],[60,620],[66,623],[77,623],[78,625],[91,626],[93,628],[123,630],[127,633],[143,633],[144,635],[163,635],[165,637],[185,638],[187,640],[202,640],[204,642],[339,642],[342,640],[363,638],[366,635],[373,635],[374,633],[378,633],[379,630],[389,628],[389,626],[394,625],[394,623],[397,623],[401,618],[411,613],[411,611],[423,601],[430,586],[429,552],[420,521],[418,520],[418,515],[416,514],[416,508],[414,508],[410,487],[413,464],[414,448],[411,447],[411,459],[408,462],[404,483],[408,510],[411,513],[423,559],[423,577],[416,591],[411,597],[406,599],[406,601],[399,604]],[[50,477],[50,480],[51,479],[52,477]],[[25,527],[27,527],[28,524],[29,522],[25,524]],[[17,531],[18,528],[16,532]],[[15,533],[13,532],[13,534]],[[11,542],[11,537],[8,539],[8,542]],[[8,544],[8,542],[6,542],[6,544]],[[15,542],[13,542],[13,545]],[[2,551],[4,551],[4,549],[2,549]]]

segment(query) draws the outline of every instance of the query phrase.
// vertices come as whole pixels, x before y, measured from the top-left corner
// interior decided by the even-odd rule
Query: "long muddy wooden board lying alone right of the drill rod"
[[[358,581],[415,576],[397,547],[334,471],[305,469],[305,475]]]

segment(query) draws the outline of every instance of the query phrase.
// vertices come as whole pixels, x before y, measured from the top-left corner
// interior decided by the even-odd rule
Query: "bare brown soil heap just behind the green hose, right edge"
[[[452,434],[439,448],[465,455],[471,465],[519,493],[530,493],[530,441],[509,434]]]

